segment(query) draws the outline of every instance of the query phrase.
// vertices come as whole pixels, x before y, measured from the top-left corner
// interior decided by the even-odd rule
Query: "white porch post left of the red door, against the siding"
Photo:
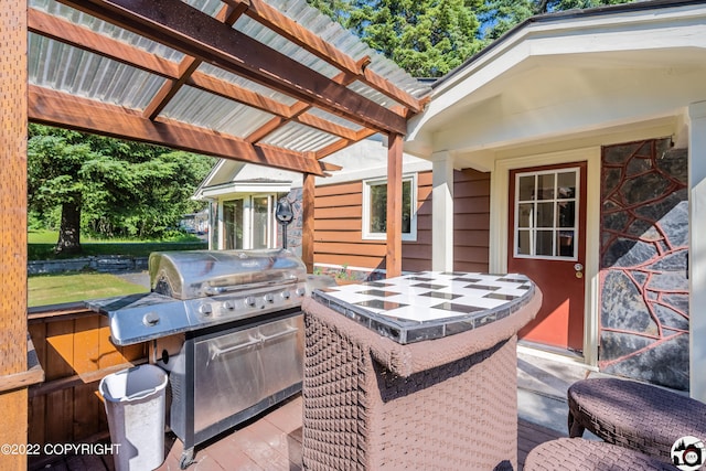
[[[432,156],[431,269],[453,270],[453,158],[449,152]]]

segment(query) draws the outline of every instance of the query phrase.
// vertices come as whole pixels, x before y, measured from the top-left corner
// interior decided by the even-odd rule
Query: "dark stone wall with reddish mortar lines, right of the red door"
[[[687,151],[606,147],[601,182],[599,367],[688,389]]]

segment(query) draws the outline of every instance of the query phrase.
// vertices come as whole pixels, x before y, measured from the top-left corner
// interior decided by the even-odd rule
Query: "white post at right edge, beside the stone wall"
[[[706,402],[706,101],[688,119],[689,393]]]

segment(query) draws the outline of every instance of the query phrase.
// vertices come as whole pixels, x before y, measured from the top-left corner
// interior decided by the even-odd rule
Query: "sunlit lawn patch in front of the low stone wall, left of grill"
[[[47,306],[87,299],[148,292],[109,274],[42,275],[28,278],[28,306]]]

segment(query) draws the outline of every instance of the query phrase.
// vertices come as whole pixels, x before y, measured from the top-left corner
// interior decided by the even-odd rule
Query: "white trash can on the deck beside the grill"
[[[167,373],[140,365],[100,379],[117,471],[145,471],[164,461]]]

